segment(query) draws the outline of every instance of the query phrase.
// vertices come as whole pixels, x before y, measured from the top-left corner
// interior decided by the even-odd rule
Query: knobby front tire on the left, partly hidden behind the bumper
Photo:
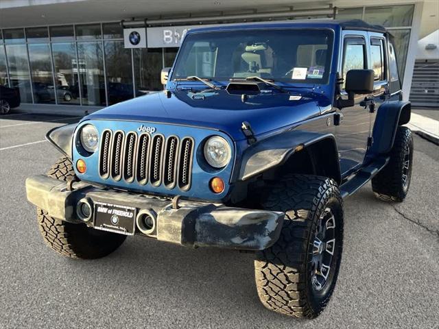
[[[75,176],[71,160],[60,158],[47,173],[51,178],[67,181]],[[107,256],[125,241],[126,236],[88,228],[84,223],[69,223],[50,217],[43,209],[36,209],[38,227],[51,249],[70,258],[93,259]]]

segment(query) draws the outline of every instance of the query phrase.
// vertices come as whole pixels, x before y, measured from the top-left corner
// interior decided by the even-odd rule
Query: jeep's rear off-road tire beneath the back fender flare
[[[409,128],[398,127],[389,155],[388,164],[372,178],[372,191],[379,199],[402,202],[412,178],[413,136]]]

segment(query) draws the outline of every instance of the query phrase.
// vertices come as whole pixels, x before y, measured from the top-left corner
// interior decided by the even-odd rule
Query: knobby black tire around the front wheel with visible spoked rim
[[[267,210],[285,212],[281,236],[272,247],[257,252],[254,260],[257,292],[262,304],[293,317],[317,317],[335,288],[343,241],[343,204],[337,184],[311,175],[289,175],[263,198]],[[331,208],[336,243],[327,285],[313,288],[313,242],[320,216]],[[327,226],[327,223],[326,223]]]

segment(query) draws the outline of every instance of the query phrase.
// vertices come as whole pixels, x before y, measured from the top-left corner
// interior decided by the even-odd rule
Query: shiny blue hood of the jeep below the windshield
[[[117,103],[84,119],[200,126],[222,130],[240,141],[244,139],[243,121],[250,123],[255,135],[264,134],[319,115],[319,102],[328,101],[317,93],[301,93],[300,100],[290,100],[292,95],[299,94],[263,90],[258,95],[248,95],[244,103],[241,95],[230,95],[226,90],[178,90],[169,98],[165,93],[154,93]]]

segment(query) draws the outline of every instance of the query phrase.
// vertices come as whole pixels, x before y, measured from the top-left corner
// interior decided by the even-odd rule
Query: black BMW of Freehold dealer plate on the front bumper
[[[95,229],[134,235],[136,211],[133,207],[95,202]]]

